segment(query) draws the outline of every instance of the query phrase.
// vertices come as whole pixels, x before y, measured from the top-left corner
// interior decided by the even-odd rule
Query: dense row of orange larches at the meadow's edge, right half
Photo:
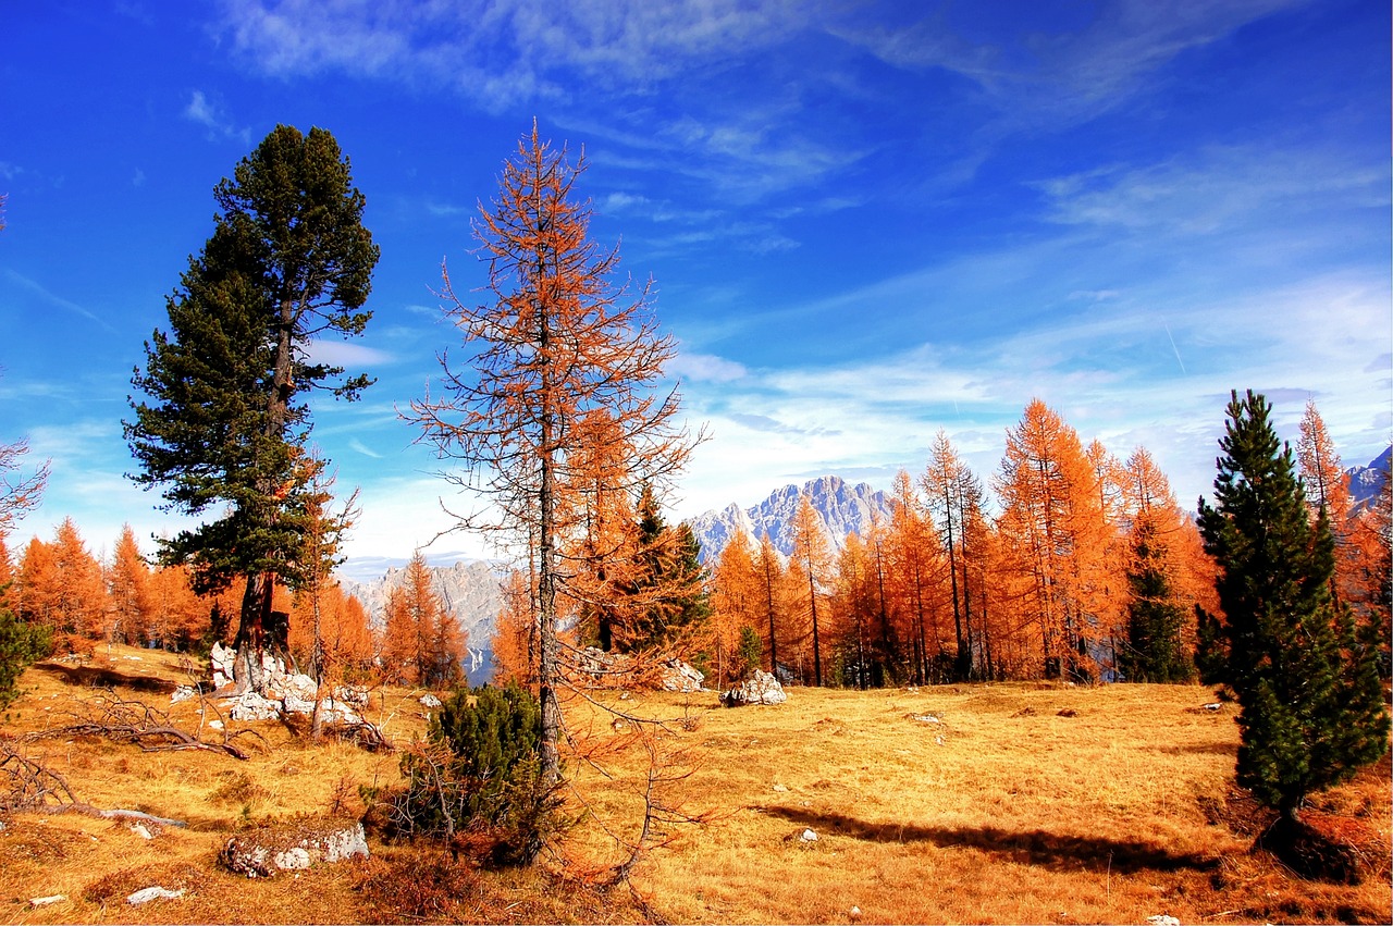
[[[1351,510],[1314,405],[1301,433],[1311,518],[1325,510],[1336,537],[1333,596],[1378,636],[1386,674],[1387,489]],[[701,643],[722,682],[742,632],[758,635],[763,668],[801,684],[1195,677],[1197,607],[1220,614],[1215,564],[1145,448],[1119,460],[1085,446],[1035,400],[985,483],[940,432],[925,471],[901,472],[890,496],[890,517],[836,556],[804,524],[807,499],[787,560],[768,536],[722,550]]]

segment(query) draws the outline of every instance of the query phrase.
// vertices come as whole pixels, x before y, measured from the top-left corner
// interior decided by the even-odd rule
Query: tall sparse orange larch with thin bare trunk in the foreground
[[[442,457],[462,464],[447,479],[493,505],[461,512],[458,526],[504,531],[536,564],[540,755],[550,783],[560,778],[566,492],[584,482],[573,472],[577,429],[603,408],[634,483],[666,485],[692,446],[677,425],[677,391],[660,389],[676,344],[659,333],[651,287],[610,283],[618,252],[588,237],[589,205],[574,198],[584,170],[584,153],[571,166],[535,124],[504,163],[499,195],[481,205],[474,226],[489,301],[467,304],[444,274],[446,315],[472,361],[461,370],[442,356],[444,395],[414,401],[410,415]]]

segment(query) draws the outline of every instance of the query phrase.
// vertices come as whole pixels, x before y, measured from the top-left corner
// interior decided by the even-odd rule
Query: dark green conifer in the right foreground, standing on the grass
[[[1238,784],[1280,812],[1290,837],[1308,794],[1383,755],[1389,713],[1373,653],[1330,602],[1329,521],[1322,511],[1311,524],[1269,412],[1262,395],[1233,393],[1215,505],[1199,500],[1199,531],[1219,565],[1226,681],[1241,706]]]

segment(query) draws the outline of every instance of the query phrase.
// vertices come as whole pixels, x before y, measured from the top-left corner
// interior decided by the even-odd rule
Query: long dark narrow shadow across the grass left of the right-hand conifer
[[[1046,830],[999,827],[936,827],[871,823],[843,813],[816,813],[805,808],[765,806],[762,813],[783,817],[823,834],[834,833],[868,842],[932,842],[940,848],[974,848],[1022,865],[1059,870],[1095,870],[1128,874],[1142,870],[1211,872],[1219,861],[1190,852],[1172,852],[1152,842],[1126,842],[1095,835],[1070,835]]]

